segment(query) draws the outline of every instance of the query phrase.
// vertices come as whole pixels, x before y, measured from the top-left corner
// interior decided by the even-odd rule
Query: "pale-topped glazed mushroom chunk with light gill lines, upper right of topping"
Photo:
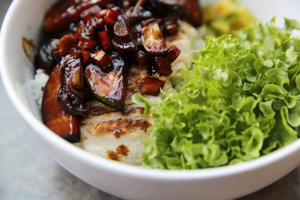
[[[143,49],[148,54],[162,55],[167,53],[165,41],[157,23],[143,27],[140,39]]]

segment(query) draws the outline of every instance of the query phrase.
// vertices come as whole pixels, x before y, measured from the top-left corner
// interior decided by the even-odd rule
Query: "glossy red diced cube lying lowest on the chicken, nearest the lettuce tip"
[[[153,96],[158,96],[160,93],[160,88],[165,84],[165,80],[159,80],[154,77],[146,77],[140,88],[140,92],[145,94],[150,94]]]

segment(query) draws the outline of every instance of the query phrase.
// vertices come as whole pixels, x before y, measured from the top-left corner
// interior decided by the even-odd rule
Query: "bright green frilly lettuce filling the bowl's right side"
[[[140,161],[146,167],[196,169],[256,158],[298,138],[300,40],[284,28],[245,27],[236,37],[208,36],[179,93],[160,102],[135,94],[152,113]]]

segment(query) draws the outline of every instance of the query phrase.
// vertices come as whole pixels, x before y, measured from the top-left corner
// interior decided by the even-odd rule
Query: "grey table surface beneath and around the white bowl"
[[[0,0],[0,24],[11,0]],[[0,199],[119,199],[76,178],[43,149],[9,101],[0,80]],[[238,200],[300,198],[300,167]]]

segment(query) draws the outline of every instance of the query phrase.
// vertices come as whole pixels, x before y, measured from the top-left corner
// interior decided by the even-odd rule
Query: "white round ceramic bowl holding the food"
[[[54,1],[12,2],[0,33],[1,75],[11,101],[33,134],[61,166],[78,178],[125,199],[232,199],[274,182],[300,163],[300,140],[244,163],[179,171],[125,165],[97,157],[60,138],[43,125],[32,96],[21,86],[34,74],[23,53],[21,36],[37,44],[44,13]],[[283,16],[300,19],[299,0],[241,2],[264,22],[273,15],[279,25]]]

